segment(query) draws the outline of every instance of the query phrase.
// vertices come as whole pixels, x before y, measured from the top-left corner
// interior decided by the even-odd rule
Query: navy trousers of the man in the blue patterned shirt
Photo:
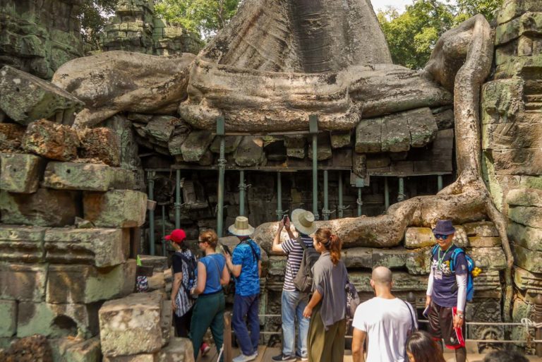
[[[259,301],[260,294],[253,294],[252,296],[236,294],[234,297],[234,315],[231,316],[231,327],[234,329],[241,352],[245,356],[250,356],[255,351],[258,351],[258,342],[260,342]],[[245,315],[246,322],[244,320]],[[251,327],[250,338],[248,337],[247,324]]]

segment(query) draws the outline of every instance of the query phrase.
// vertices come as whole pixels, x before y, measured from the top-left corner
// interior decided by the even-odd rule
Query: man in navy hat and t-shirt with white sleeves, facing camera
[[[438,220],[433,229],[438,248],[431,257],[426,309],[429,333],[435,340],[444,339],[454,349],[457,362],[466,361],[464,310],[466,303],[467,264],[464,253],[452,260],[455,229],[450,220]],[[450,268],[450,263],[454,263]],[[452,271],[453,270],[453,271]]]

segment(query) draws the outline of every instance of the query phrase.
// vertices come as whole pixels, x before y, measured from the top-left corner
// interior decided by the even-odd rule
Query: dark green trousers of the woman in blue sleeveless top
[[[208,296],[198,296],[195,301],[192,312],[192,322],[190,335],[192,346],[194,349],[194,361],[198,359],[200,346],[203,342],[203,336],[207,332],[207,328],[211,328],[212,339],[215,340],[217,351],[222,348],[224,343],[224,309],[226,304],[224,301],[224,293],[220,291],[217,294]],[[220,359],[220,362],[222,362]]]

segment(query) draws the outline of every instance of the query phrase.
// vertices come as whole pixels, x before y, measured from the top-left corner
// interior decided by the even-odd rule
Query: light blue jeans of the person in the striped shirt
[[[296,341],[296,319],[299,336],[296,352],[301,357],[307,356],[308,318],[303,317],[303,309],[307,306],[308,294],[301,291],[282,291],[282,354],[294,355]]]

